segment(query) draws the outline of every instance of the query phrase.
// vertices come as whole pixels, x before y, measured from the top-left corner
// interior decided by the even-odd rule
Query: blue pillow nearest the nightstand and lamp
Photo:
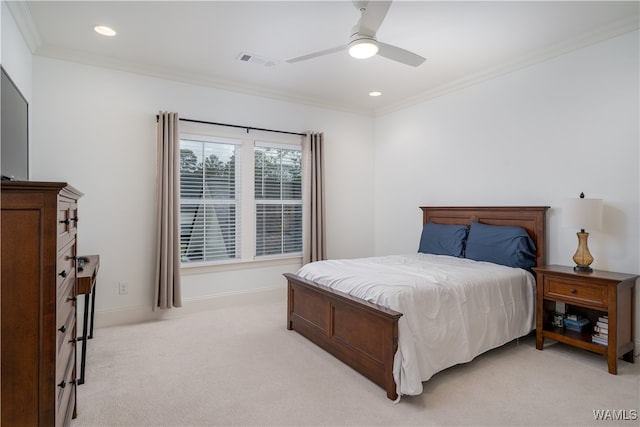
[[[536,245],[524,228],[472,222],[465,257],[529,270],[536,265]]]

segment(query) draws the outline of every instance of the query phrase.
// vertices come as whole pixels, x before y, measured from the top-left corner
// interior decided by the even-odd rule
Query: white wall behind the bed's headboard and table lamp
[[[637,31],[376,120],[376,254],[413,252],[421,205],[547,205],[549,263],[573,265],[563,200],[604,199],[593,267],[640,273]],[[587,230],[590,231],[590,230]],[[640,285],[636,287],[640,307]],[[636,315],[636,341],[640,316]]]

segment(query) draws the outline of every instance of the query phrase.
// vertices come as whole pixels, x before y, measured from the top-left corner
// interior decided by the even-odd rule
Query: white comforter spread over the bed
[[[297,274],[403,313],[393,369],[399,396],[422,393],[437,372],[535,326],[535,280],[519,268],[417,253],[314,262]]]

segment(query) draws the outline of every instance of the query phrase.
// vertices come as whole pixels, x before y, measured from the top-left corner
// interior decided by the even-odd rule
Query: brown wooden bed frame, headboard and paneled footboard
[[[423,224],[519,226],[536,244],[536,265],[545,260],[546,206],[421,207]],[[417,238],[416,238],[417,240]],[[398,397],[393,359],[398,348],[398,320],[402,313],[354,298],[305,280],[295,274],[288,281],[287,329],[295,330]]]

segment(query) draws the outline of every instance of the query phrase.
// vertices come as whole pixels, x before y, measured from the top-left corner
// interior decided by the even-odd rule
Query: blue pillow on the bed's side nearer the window
[[[464,255],[468,232],[469,227],[466,225],[427,222],[422,227],[418,252],[461,257]]]

